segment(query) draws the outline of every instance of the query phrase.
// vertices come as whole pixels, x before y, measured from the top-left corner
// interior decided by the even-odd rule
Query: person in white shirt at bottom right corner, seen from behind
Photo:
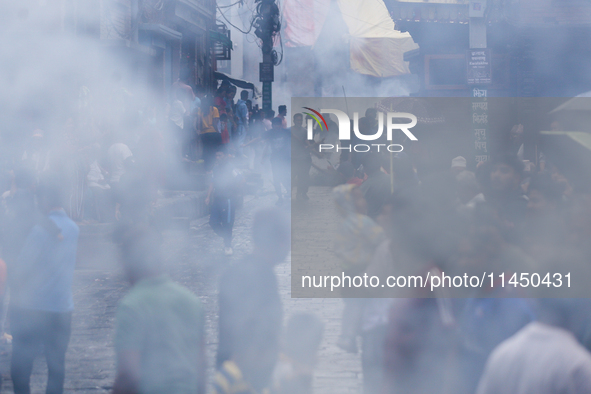
[[[589,301],[538,302],[539,322],[528,324],[494,350],[478,394],[591,392],[591,354],[577,342],[591,316]]]

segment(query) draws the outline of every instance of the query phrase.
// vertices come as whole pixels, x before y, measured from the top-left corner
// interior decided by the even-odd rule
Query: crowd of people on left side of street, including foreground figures
[[[279,106],[275,116],[253,108],[246,90],[235,102],[236,92],[224,82],[205,94],[179,80],[169,103],[158,106],[141,104],[125,89],[114,88],[105,98],[82,87],[63,126],[54,117],[28,135],[2,134],[0,284],[2,297],[8,289],[10,333],[2,340],[12,341],[15,393],[30,392],[40,350],[48,366],[47,392],[63,392],[78,240],[81,227],[92,223],[116,224],[114,241],[132,285],[116,315],[113,391],[205,392],[203,308],[165,274],[154,205],[180,178],[205,175],[209,222],[226,255],[233,253],[244,170],[270,167],[277,205],[289,207],[287,108]],[[254,252],[237,264],[244,275],[231,270],[222,278],[216,382],[230,381],[216,383],[216,392],[273,386],[278,393],[296,393],[312,385],[322,323],[310,314],[290,320],[286,333],[303,348],[281,335],[273,267],[290,248],[284,215],[285,209],[271,209],[255,217]]]

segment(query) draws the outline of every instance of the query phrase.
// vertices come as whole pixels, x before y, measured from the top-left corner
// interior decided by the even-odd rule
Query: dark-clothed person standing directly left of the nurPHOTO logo
[[[306,129],[303,126],[304,117],[302,114],[293,116],[291,126],[291,147],[293,180],[296,184],[296,198],[308,200],[308,189],[310,187],[310,168],[312,167],[311,144],[306,138]]]

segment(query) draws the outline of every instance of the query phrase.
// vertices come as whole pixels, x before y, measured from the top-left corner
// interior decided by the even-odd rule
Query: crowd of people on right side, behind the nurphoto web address
[[[508,283],[515,273],[573,268],[588,277],[584,183],[572,186],[543,155],[534,164],[510,150],[472,169],[450,157],[429,174],[406,153],[392,163],[389,154],[343,156],[334,248],[344,275],[507,278],[436,294],[409,288],[403,298],[343,288],[338,345],[361,351],[364,393],[591,392],[591,304],[573,298],[585,289],[534,293],[539,284]]]

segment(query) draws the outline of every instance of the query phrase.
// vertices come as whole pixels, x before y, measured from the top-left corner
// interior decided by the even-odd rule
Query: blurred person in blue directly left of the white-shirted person
[[[459,250],[458,272],[482,275],[485,271],[505,273],[534,272],[537,265],[521,249],[505,240],[504,224],[496,212],[485,204],[479,205]],[[473,393],[484,370],[486,359],[503,340],[535,319],[525,294],[513,287],[490,285],[473,289],[466,299],[459,327],[458,393]]]

